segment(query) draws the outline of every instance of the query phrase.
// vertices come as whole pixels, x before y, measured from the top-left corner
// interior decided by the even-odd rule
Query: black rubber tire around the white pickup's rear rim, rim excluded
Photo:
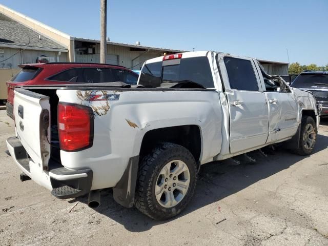
[[[173,160],[181,160],[186,163],[190,173],[190,182],[188,191],[182,200],[172,208],[165,208],[156,199],[155,186],[162,168]],[[164,142],[154,148],[140,162],[135,193],[135,207],[141,213],[156,220],[174,217],[185,209],[190,202],[194,195],[196,181],[197,165],[190,151],[180,145]]]

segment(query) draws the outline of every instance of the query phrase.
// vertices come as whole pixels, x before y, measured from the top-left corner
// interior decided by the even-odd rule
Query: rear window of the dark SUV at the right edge
[[[328,87],[328,74],[300,74],[292,84],[292,87],[295,88],[309,88],[311,86]]]

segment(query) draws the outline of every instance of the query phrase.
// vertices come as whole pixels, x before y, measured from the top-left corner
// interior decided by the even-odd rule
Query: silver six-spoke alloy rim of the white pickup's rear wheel
[[[158,203],[172,208],[186,196],[189,188],[190,173],[185,162],[172,160],[160,171],[155,187]]]

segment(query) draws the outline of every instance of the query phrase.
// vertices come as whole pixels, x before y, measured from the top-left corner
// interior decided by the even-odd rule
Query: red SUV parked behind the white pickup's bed
[[[19,65],[22,71],[7,82],[7,115],[13,118],[14,89],[23,85],[58,85],[122,81],[137,84],[138,75],[116,65],[95,63],[37,63]]]

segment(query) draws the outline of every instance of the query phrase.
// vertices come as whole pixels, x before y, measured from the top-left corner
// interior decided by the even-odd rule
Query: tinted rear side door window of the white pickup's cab
[[[231,89],[258,91],[258,84],[250,60],[224,57]]]

